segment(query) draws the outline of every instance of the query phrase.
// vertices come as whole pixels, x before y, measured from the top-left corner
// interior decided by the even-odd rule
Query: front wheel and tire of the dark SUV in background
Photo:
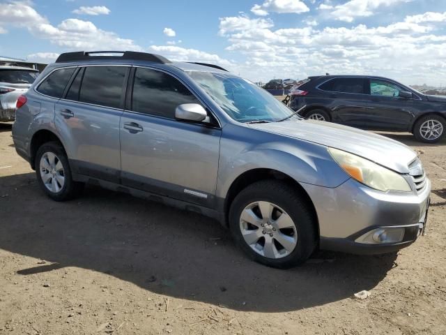
[[[446,120],[435,114],[419,119],[413,127],[413,135],[420,142],[436,143],[445,136]]]

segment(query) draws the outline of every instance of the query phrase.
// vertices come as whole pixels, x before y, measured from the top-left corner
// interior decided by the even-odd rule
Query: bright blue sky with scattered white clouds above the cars
[[[254,81],[323,73],[446,85],[446,1],[0,0],[0,55],[139,50]]]

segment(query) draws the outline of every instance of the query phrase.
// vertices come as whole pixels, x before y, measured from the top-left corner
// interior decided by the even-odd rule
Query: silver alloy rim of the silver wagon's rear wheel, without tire
[[[52,152],[45,152],[40,158],[40,177],[43,184],[52,193],[59,193],[65,184],[65,171],[59,157]]]

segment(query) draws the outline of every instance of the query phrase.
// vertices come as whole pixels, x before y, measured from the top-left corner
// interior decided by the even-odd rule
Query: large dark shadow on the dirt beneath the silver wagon
[[[47,262],[17,271],[23,276],[79,267],[171,297],[262,312],[371,290],[397,257],[319,252],[301,267],[271,269],[245,258],[204,216],[93,187],[53,202],[32,173],[0,178],[0,248]]]

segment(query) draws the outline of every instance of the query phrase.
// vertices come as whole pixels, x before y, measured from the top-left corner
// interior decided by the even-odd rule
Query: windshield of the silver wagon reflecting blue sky
[[[188,74],[236,121],[275,122],[294,113],[267,91],[241,77],[200,71]]]

